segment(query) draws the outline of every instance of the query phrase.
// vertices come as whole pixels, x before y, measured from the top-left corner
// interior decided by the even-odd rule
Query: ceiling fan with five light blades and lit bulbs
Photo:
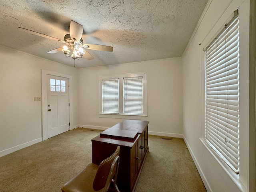
[[[28,30],[25,28],[18,27],[18,30],[34,34],[37,36],[41,36],[44,38],[48,38],[51,40],[56,40],[58,42],[62,42],[66,44],[63,47],[48,51],[48,53],[57,53],[59,51],[64,52],[66,56],[72,57],[74,60],[82,58],[83,56],[91,60],[93,57],[84,50],[85,49],[91,49],[91,50],[98,50],[98,51],[113,51],[113,47],[111,46],[106,46],[106,45],[97,45],[97,44],[84,44],[83,39],[82,39],[82,34],[83,34],[83,26],[78,24],[77,22],[71,21],[70,22],[70,27],[69,27],[69,34],[66,34],[64,36],[64,40],[60,40],[42,33],[38,33],[32,30]],[[72,51],[71,55],[68,55],[70,53],[70,50]]]

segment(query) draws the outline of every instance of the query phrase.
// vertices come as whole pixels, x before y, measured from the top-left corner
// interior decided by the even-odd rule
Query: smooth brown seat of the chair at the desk
[[[88,164],[76,176],[74,176],[74,178],[72,178],[62,187],[62,192],[96,192],[92,188],[92,183],[98,167],[99,166],[94,163]],[[98,190],[97,192],[101,191],[102,190]]]

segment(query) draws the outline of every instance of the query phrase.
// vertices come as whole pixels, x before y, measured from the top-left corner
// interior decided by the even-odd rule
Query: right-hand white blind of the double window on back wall
[[[124,78],[124,114],[142,115],[142,77]]]

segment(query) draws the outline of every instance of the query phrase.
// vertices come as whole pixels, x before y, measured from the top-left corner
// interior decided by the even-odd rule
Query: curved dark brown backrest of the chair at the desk
[[[117,174],[116,171],[119,166],[119,153],[120,146],[117,146],[114,154],[100,163],[92,185],[94,190],[98,191],[105,188],[104,191],[108,191],[112,178]]]

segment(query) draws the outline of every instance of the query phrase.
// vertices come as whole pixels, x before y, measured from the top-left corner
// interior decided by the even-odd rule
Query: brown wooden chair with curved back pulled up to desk
[[[62,186],[62,192],[107,192],[112,182],[116,192],[120,192],[117,185],[120,146],[110,157],[100,165],[88,164],[74,178]]]

